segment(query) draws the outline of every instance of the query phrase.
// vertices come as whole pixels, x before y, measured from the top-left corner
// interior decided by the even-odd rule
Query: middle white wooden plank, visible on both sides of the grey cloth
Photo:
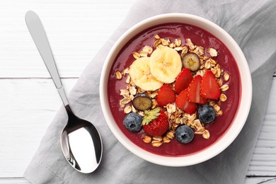
[[[62,79],[66,91],[76,80]],[[62,101],[51,79],[1,79],[0,93],[0,178],[23,176]],[[248,176],[275,176],[275,103],[276,78]]]

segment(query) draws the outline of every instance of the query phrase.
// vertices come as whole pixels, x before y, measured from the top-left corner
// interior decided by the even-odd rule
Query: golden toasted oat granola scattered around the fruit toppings
[[[197,54],[197,56],[200,58],[200,69],[197,71],[192,72],[193,76],[200,75],[204,76],[205,71],[210,70],[212,73],[216,76],[217,81],[219,83],[220,89],[222,92],[227,91],[229,89],[228,84],[224,84],[224,82],[229,81],[230,75],[227,72],[224,72],[224,69],[217,63],[215,58],[219,54],[217,50],[214,48],[209,48],[207,52],[209,53],[209,56],[205,56],[205,48],[201,46],[194,45],[192,43],[192,40],[190,38],[187,38],[185,40],[185,45],[182,46],[182,41],[180,39],[176,39],[174,42],[171,42],[170,39],[164,39],[160,38],[159,35],[155,35],[154,38],[156,38],[154,42],[154,47],[150,47],[148,45],[144,46],[142,50],[139,50],[138,52],[133,52],[134,59],[138,59],[140,57],[149,57],[153,50],[155,48],[159,47],[171,47],[174,50],[178,51],[180,54],[181,59],[183,56],[188,52],[193,52]],[[151,109],[154,109],[158,106],[158,103],[156,101],[156,96],[158,94],[159,89],[156,91],[144,91],[138,86],[135,86],[132,82],[132,79],[130,78],[129,74],[129,68],[124,69],[123,71],[116,71],[115,76],[118,80],[122,79],[122,76],[126,77],[126,88],[120,89],[120,96],[122,96],[122,100],[120,100],[120,108],[124,109],[124,112],[127,113],[139,113],[142,117],[144,117],[144,112],[136,110],[132,103],[130,103],[134,96],[136,96],[139,93],[145,93],[148,95],[152,100],[152,106]],[[174,87],[175,82],[172,84]],[[220,108],[220,105],[222,102],[225,102],[227,99],[226,95],[224,93],[221,93],[218,100],[209,100],[209,105],[212,105],[217,115],[222,115],[222,109]],[[151,137],[149,135],[144,135],[142,137],[142,140],[145,143],[151,143],[152,146],[161,146],[163,143],[169,143],[171,142],[171,139],[175,137],[176,128],[179,125],[188,125],[192,129],[195,130],[195,134],[201,134],[202,137],[205,139],[209,139],[210,133],[205,128],[205,124],[200,122],[200,120],[197,119],[197,113],[188,114],[185,113],[182,109],[178,108],[175,103],[170,103],[164,108],[164,113],[168,115],[170,126],[168,128],[168,131],[163,137]]]

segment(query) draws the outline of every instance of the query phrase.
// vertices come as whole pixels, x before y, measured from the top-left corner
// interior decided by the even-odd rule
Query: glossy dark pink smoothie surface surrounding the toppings
[[[123,69],[130,67],[130,64],[134,62],[132,52],[138,52],[145,45],[154,47],[154,35],[158,34],[161,38],[170,39],[172,42],[175,39],[180,39],[182,45],[185,45],[185,39],[190,38],[194,45],[199,45],[205,48],[205,55],[210,47],[218,51],[219,55],[214,58],[218,64],[221,65],[224,71],[230,74],[229,81],[224,84],[229,85],[229,90],[223,92],[227,96],[226,102],[222,103],[223,115],[216,117],[211,125],[207,125],[206,129],[210,132],[210,138],[204,139],[202,135],[195,134],[194,139],[189,144],[180,144],[176,139],[173,139],[168,144],[162,144],[159,147],[153,147],[151,144],[146,144],[142,141],[142,136],[146,133],[141,130],[138,133],[130,132],[122,124],[125,117],[123,109],[120,108],[120,89],[124,89],[127,84],[125,83],[126,77],[123,76],[122,80],[117,80],[115,77],[116,71],[123,71]],[[108,100],[110,110],[113,117],[120,127],[120,130],[125,136],[130,139],[134,144],[141,149],[149,151],[154,154],[162,156],[183,156],[188,154],[195,154],[197,151],[202,151],[208,146],[217,142],[223,134],[231,126],[231,122],[236,116],[238,105],[241,96],[241,79],[238,72],[238,67],[234,57],[227,47],[218,40],[215,35],[208,33],[206,30],[197,28],[193,25],[187,25],[183,23],[167,23],[162,25],[156,25],[152,28],[142,31],[127,42],[125,47],[122,48],[120,53],[114,58],[113,67],[110,70],[110,76],[108,81]]]

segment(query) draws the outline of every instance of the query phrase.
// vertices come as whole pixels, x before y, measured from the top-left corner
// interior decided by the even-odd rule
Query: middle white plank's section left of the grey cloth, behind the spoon
[[[23,176],[62,100],[51,79],[2,79],[0,94],[0,178]]]

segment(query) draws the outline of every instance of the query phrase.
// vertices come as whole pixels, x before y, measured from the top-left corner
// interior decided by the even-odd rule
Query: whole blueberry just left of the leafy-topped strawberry
[[[137,113],[130,113],[125,116],[123,123],[127,130],[139,132],[142,130],[142,120],[142,117]]]

